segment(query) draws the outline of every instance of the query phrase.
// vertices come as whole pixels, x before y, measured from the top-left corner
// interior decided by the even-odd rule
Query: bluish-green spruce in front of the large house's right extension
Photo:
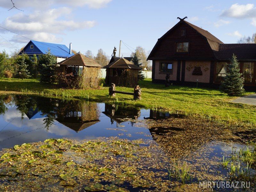
[[[241,77],[239,63],[236,55],[233,54],[232,60],[227,64],[227,73],[220,85],[220,91],[228,95],[241,95],[244,92],[244,78]]]

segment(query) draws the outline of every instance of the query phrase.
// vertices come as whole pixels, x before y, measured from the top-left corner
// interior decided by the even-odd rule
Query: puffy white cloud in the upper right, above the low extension
[[[225,10],[221,16],[232,18],[252,18],[256,17],[256,7],[254,4],[233,4],[228,10]]]

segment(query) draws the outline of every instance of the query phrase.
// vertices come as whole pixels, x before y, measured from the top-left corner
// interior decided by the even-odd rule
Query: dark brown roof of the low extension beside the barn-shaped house
[[[218,60],[230,60],[235,54],[238,60],[256,60],[256,44],[220,44]]]

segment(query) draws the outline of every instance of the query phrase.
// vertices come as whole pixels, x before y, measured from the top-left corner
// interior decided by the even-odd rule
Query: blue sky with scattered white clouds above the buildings
[[[179,20],[211,32],[224,43],[237,43],[256,32],[256,2],[246,0],[13,0],[24,10],[0,0],[0,26],[37,41],[61,43],[94,55],[102,48],[109,56],[119,40],[150,52],[158,38]],[[6,40],[4,40],[6,39]],[[0,51],[21,48],[28,39],[0,29]],[[129,49],[132,50],[132,48]],[[121,54],[131,51],[122,45]],[[132,50],[133,51],[133,50]],[[118,52],[118,50],[117,50]]]

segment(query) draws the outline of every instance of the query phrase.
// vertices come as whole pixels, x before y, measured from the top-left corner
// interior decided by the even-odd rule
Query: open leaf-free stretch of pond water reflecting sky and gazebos
[[[0,109],[0,148],[48,138],[150,138],[148,129],[133,126],[133,119],[149,116],[146,109],[24,94],[1,95]]]

